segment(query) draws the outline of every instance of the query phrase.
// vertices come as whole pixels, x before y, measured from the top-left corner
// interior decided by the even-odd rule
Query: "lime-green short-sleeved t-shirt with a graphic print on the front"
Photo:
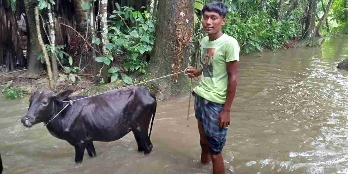
[[[239,61],[239,44],[227,34],[208,40],[205,37],[201,41],[200,68],[203,73],[193,91],[208,101],[224,104],[228,85],[226,62]]]

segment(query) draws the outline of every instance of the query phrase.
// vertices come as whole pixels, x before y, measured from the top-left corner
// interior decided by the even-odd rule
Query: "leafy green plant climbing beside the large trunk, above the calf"
[[[130,72],[146,73],[145,68],[148,63],[142,57],[152,51],[155,43],[155,20],[146,10],[141,13],[132,7],[120,7],[118,3],[116,3],[116,7],[117,10],[114,10],[109,17],[109,22],[111,22],[108,27],[110,43],[105,45],[109,54],[97,57],[95,61],[109,65],[113,61],[112,55],[121,51],[125,52],[128,56],[127,61],[122,67],[109,69],[109,77],[111,77],[111,81],[116,81],[121,77],[125,83],[132,84],[132,79],[120,70],[129,69]],[[131,23],[132,27],[127,25],[127,21]],[[92,43],[101,44],[98,38],[92,38]]]

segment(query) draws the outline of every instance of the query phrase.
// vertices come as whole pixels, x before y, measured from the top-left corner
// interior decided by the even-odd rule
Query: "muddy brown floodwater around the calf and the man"
[[[348,174],[348,35],[321,48],[298,48],[240,57],[239,83],[222,153],[235,174]],[[3,94],[1,94],[3,95]],[[74,164],[74,148],[42,124],[26,128],[29,106],[0,97],[3,174],[208,174],[200,164],[199,134],[189,95],[159,102],[149,156],[137,151],[132,133],[113,142],[94,142]],[[228,173],[228,172],[227,172]]]

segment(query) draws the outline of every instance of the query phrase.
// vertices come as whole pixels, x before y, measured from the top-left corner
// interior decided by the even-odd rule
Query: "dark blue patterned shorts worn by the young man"
[[[208,101],[197,94],[195,96],[195,115],[197,120],[203,124],[209,153],[214,155],[220,154],[226,143],[228,128],[219,127],[219,115],[222,107],[223,104]]]

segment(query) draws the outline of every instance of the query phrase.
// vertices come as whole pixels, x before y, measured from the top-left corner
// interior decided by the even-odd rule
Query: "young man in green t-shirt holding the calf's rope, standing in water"
[[[228,7],[222,2],[209,2],[202,10],[204,32],[201,41],[201,68],[188,69],[188,77],[202,75],[193,89],[195,114],[200,134],[201,163],[213,163],[213,173],[224,173],[222,148],[230,125],[230,108],[235,97],[239,61],[236,39],[223,34]]]

